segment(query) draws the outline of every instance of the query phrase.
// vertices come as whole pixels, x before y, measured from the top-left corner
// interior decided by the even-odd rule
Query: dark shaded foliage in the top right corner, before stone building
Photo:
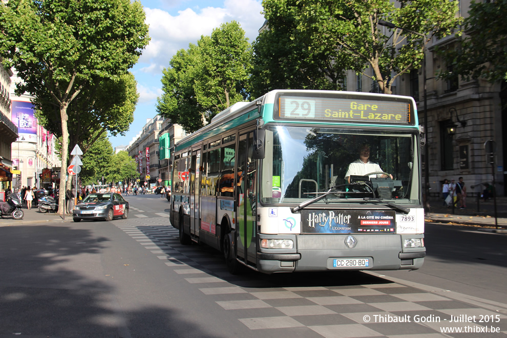
[[[439,49],[452,72],[467,79],[507,80],[507,0],[472,2],[469,16],[453,48]],[[442,73],[442,76],[452,76]]]

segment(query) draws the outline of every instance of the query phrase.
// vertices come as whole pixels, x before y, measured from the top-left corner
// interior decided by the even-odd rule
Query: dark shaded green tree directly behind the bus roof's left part
[[[303,3],[264,0],[263,7],[269,27],[253,44],[252,94],[259,97],[274,89],[343,89],[344,70],[357,67],[335,50],[315,48],[310,34],[298,30]]]

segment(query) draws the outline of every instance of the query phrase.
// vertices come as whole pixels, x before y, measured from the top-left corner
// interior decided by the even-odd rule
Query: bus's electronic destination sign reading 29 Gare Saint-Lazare
[[[279,116],[291,120],[413,124],[408,101],[356,98],[280,96]],[[412,109],[413,110],[413,109]]]

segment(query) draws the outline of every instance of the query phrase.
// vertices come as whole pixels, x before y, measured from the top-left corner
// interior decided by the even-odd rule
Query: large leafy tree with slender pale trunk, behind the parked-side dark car
[[[148,27],[139,2],[130,0],[9,0],[0,5],[0,56],[23,83],[16,92],[34,95],[36,107],[51,98],[59,110],[65,182],[69,105],[101,79],[125,74],[147,45]],[[39,99],[40,97],[40,99]],[[52,112],[49,112],[50,114]],[[65,184],[59,207],[65,215]]]

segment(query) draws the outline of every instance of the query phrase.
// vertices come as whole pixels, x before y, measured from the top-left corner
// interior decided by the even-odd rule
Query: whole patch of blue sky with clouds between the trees
[[[113,147],[128,145],[141,131],[146,119],[157,115],[157,97],[162,94],[162,69],[176,51],[195,44],[201,35],[210,35],[222,23],[236,20],[250,43],[264,23],[261,0],[141,0],[150,25],[150,44],[131,70],[140,94],[134,122],[125,136],[110,136]]]

